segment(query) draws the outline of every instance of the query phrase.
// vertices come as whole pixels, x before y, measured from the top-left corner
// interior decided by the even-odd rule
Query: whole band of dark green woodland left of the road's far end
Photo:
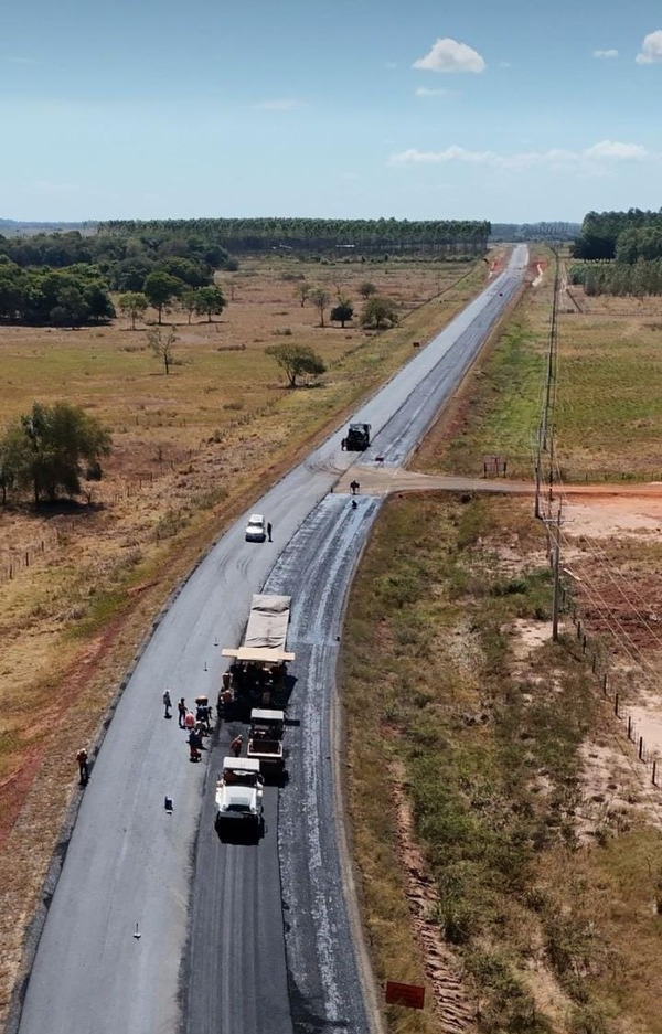
[[[406,220],[154,220],[98,223],[93,230],[0,235],[0,322],[82,327],[178,301],[201,311],[214,273],[238,268],[237,255],[325,256],[357,262],[425,255],[467,259],[487,250],[488,222]],[[203,294],[191,295],[191,291]]]

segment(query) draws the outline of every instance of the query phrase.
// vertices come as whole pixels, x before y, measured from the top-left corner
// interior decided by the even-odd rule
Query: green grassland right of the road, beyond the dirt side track
[[[551,256],[546,256],[547,259]],[[660,319],[655,299],[562,292],[553,388],[564,481],[660,480]],[[533,478],[549,344],[553,264],[530,286],[416,458],[418,469],[480,476],[489,456]]]

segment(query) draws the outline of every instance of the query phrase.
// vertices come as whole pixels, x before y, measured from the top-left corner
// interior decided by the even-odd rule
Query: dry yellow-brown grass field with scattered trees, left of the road
[[[349,295],[371,280],[396,299],[394,330],[319,327],[302,280]],[[175,323],[166,376],[146,329],[0,329],[0,420],[39,399],[95,413],[115,443],[79,507],[0,512],[0,1021],[22,935],[89,744],[169,591],[265,479],[337,426],[482,287],[485,266],[245,262],[220,276],[228,306]],[[295,392],[265,348],[309,344],[328,366]],[[11,572],[11,578],[9,577]]]

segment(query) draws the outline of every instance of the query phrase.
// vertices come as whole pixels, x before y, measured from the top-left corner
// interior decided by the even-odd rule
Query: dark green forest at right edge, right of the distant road
[[[662,209],[589,212],[573,256],[581,262],[570,267],[570,281],[588,295],[662,295]]]

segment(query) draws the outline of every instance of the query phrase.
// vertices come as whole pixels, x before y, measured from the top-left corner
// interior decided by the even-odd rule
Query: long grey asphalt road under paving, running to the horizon
[[[526,248],[515,248],[506,271],[354,415],[373,427],[362,463],[396,463],[412,451],[519,289],[526,260]],[[271,522],[275,542],[247,544],[238,521],[156,622],[92,767],[21,1034],[367,1028],[342,893],[329,704],[333,633],[378,503],[361,500],[352,511],[346,497],[327,499],[356,460],[341,451],[343,435],[250,508]],[[168,687],[173,701],[215,700],[221,648],[241,641],[250,596],[265,582],[295,599],[298,681],[288,717],[300,725],[288,729],[290,782],[266,795],[263,840],[226,844],[210,819],[223,737],[233,731],[210,745],[209,764],[191,764],[161,695]]]

